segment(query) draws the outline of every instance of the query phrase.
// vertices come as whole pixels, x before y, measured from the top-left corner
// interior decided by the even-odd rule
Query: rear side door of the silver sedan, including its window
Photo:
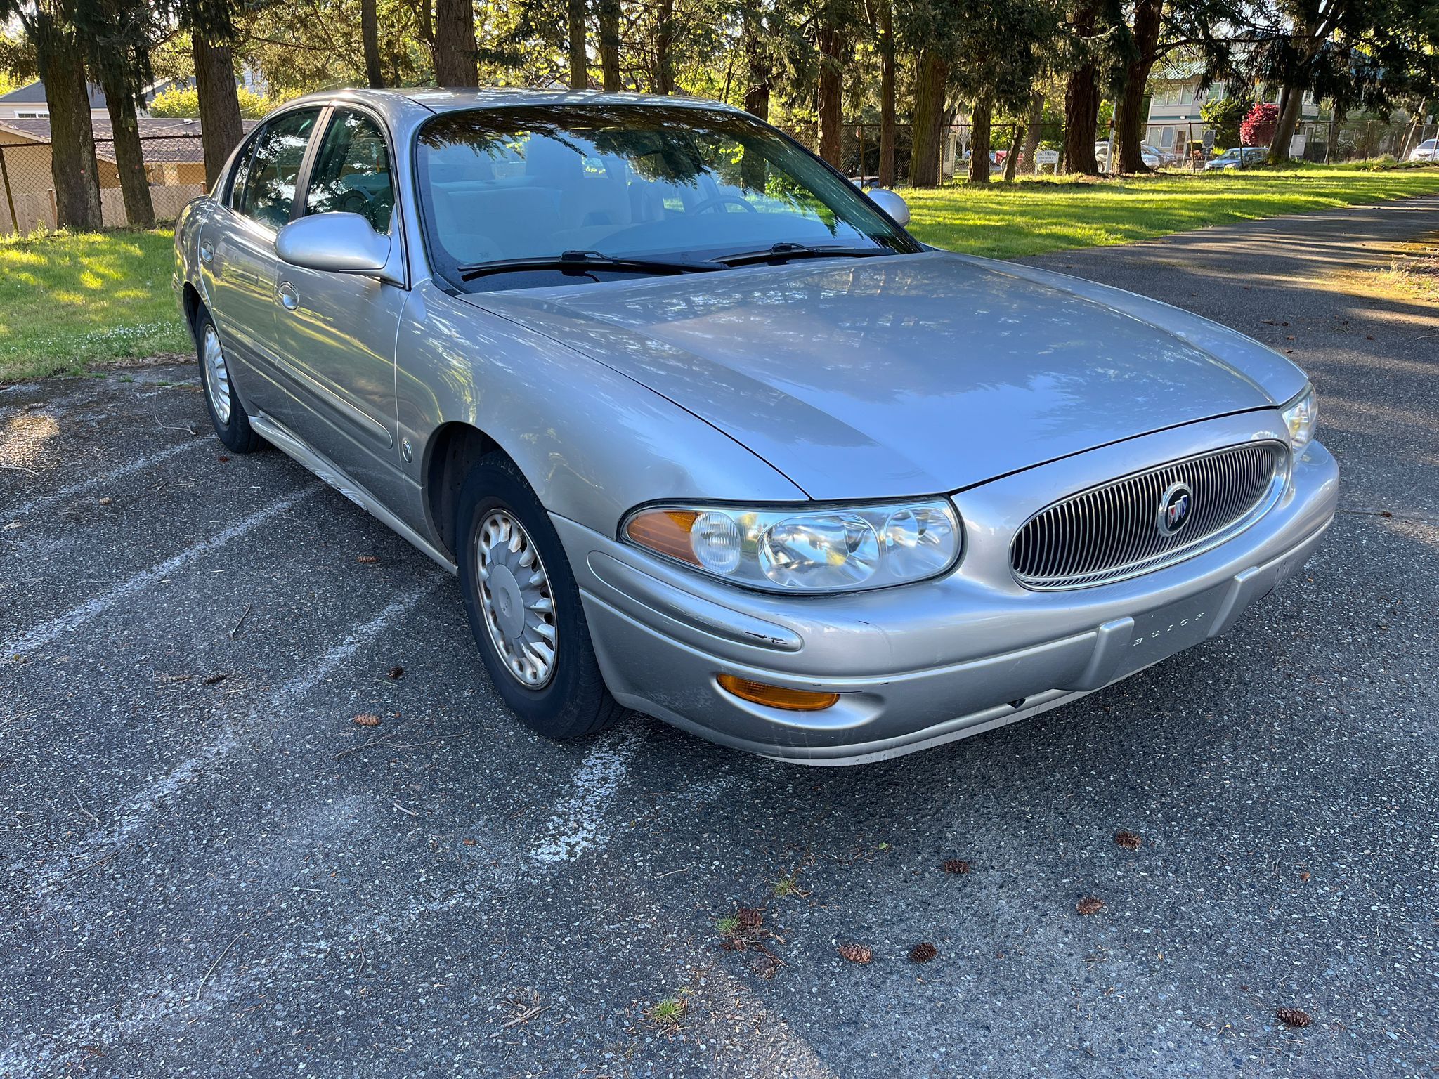
[[[201,236],[200,258],[226,358],[243,371],[237,384],[246,404],[271,414],[288,404],[276,370],[275,233],[294,211],[301,165],[319,112],[282,112],[250,138],[230,183],[227,209]]]

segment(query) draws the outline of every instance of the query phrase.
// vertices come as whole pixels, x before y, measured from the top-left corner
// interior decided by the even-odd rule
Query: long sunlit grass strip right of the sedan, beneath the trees
[[[904,196],[909,201],[909,230],[925,243],[1013,259],[1435,191],[1439,167],[1371,171],[1301,165],[1104,181],[1022,180]]]

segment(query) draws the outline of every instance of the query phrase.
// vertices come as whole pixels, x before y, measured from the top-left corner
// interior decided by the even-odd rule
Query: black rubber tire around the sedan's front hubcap
[[[518,522],[524,540],[534,544],[543,575],[548,578],[553,610],[537,619],[553,624],[554,657],[548,678],[540,686],[524,683],[496,643],[496,634],[504,636],[499,630],[502,596],[498,588],[488,593],[488,600],[481,594],[481,529],[486,521],[492,525],[496,519],[502,522],[505,515]],[[610,696],[600,675],[580,604],[580,588],[564,557],[560,535],[530,483],[504,453],[486,455],[465,479],[455,511],[455,538],[469,629],[489,679],[509,709],[535,734],[557,741],[583,738],[614,724],[625,709]],[[496,580],[492,577],[491,583]],[[486,609],[495,613],[495,633],[491,632]],[[522,619],[527,626],[534,624],[528,616]]]

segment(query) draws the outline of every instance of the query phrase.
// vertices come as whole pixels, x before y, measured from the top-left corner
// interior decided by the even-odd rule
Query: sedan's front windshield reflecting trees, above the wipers
[[[416,173],[435,269],[466,289],[594,279],[541,269],[460,281],[462,268],[564,252],[705,260],[774,245],[922,250],[822,161],[718,109],[448,112],[420,128]]]

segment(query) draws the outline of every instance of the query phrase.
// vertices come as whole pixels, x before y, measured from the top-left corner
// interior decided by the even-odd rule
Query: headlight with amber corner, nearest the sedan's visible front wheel
[[[620,529],[633,544],[734,584],[850,591],[935,577],[960,557],[948,499],[872,506],[646,506]]]

